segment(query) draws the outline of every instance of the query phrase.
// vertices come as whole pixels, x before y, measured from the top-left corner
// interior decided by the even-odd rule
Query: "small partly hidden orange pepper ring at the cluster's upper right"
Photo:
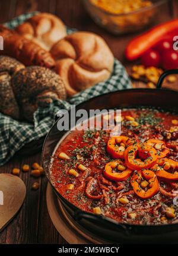
[[[170,152],[170,149],[166,148],[166,143],[164,141],[160,141],[160,139],[148,139],[146,143],[148,146],[152,146],[157,150],[158,158],[166,157]]]

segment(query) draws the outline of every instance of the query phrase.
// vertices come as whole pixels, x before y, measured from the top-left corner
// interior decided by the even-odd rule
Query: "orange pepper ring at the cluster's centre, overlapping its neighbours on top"
[[[135,143],[134,145],[128,146],[124,155],[126,165],[131,170],[150,168],[158,158],[157,151],[146,143]]]

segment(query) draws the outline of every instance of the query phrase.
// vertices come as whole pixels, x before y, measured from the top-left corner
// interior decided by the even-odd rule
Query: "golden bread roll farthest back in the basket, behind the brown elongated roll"
[[[66,36],[66,27],[62,20],[49,13],[37,14],[20,24],[15,30],[46,50]]]

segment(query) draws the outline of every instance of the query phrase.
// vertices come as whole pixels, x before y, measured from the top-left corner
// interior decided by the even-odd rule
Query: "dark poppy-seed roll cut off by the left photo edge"
[[[20,111],[11,85],[12,76],[24,65],[14,58],[0,56],[0,111],[19,119]]]

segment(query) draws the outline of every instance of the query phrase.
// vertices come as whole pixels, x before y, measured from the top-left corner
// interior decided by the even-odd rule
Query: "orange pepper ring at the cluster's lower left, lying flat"
[[[125,167],[125,168],[123,168]],[[122,172],[113,172],[113,170],[117,168],[117,170]],[[127,180],[128,177],[131,176],[132,170],[129,170],[126,166],[124,166],[123,162],[120,160],[112,161],[106,164],[105,170],[104,170],[104,176],[107,177],[107,179],[115,180],[115,181],[123,181]]]

